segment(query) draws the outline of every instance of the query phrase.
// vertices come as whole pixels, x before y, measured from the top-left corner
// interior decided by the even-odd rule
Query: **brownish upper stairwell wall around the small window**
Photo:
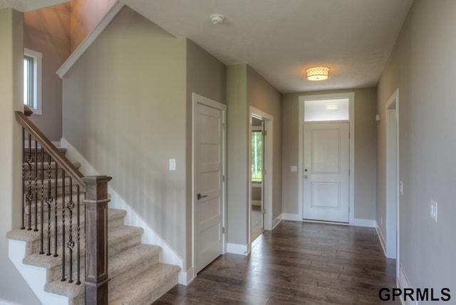
[[[41,113],[32,122],[52,141],[62,138],[62,80],[58,68],[70,56],[70,5],[24,14],[24,46],[43,54]]]

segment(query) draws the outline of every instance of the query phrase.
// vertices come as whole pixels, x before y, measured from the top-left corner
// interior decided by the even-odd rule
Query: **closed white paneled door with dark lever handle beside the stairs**
[[[223,253],[224,110],[195,101],[195,261],[199,272]]]

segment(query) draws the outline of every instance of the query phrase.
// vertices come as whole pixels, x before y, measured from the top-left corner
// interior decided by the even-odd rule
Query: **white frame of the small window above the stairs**
[[[43,54],[37,51],[24,48],[24,60],[31,61],[31,75],[28,76],[27,84],[28,91],[30,91],[31,98],[26,101],[24,95],[24,105],[27,105],[33,111],[34,115],[41,115],[41,75],[42,75],[42,61]],[[24,63],[25,64],[25,63]],[[24,75],[24,86],[26,82],[26,76]],[[24,88],[24,93],[26,88]],[[28,104],[30,103],[30,105]]]

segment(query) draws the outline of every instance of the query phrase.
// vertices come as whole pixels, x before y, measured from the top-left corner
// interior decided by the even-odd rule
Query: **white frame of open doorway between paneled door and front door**
[[[273,141],[273,126],[274,126],[274,117],[272,115],[269,115],[268,113],[265,113],[264,111],[261,111],[257,108],[254,108],[252,106],[249,107],[249,214],[247,215],[247,218],[249,219],[249,243],[248,243],[248,252],[250,252],[251,249],[251,226],[252,224],[250,217],[251,212],[252,212],[252,179],[251,179],[251,174],[250,171],[252,169],[252,158],[250,157],[250,152],[252,151],[252,140],[250,140],[250,137],[252,136],[252,115],[256,115],[261,120],[264,121],[264,130],[266,131],[266,137],[264,137],[264,170],[266,170],[266,175],[264,175],[264,229],[265,230],[271,230],[272,229],[272,177],[273,177],[273,172],[272,172],[272,141]]]

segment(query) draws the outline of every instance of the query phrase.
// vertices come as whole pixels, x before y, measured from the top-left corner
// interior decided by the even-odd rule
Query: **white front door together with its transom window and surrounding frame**
[[[355,94],[299,97],[296,220],[354,224]]]

